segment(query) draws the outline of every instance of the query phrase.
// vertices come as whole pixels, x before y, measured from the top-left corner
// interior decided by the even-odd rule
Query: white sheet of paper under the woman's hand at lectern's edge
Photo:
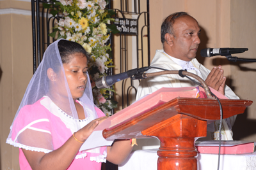
[[[90,150],[100,146],[111,146],[112,143],[113,140],[107,141],[103,138],[102,131],[93,131],[89,138],[83,143],[79,151]]]

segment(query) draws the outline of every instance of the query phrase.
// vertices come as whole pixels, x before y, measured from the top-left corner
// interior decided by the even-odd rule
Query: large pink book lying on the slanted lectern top
[[[124,110],[118,111],[118,113],[107,118],[102,122],[102,124],[98,125],[94,131],[100,131],[106,128],[115,127],[118,124],[124,124],[124,122],[128,122],[132,118],[138,117],[147,111],[157,108],[157,106],[171,101],[176,97],[197,98],[198,93],[201,94],[203,91],[204,89],[201,87],[163,87],[152,94],[142,97],[140,100],[136,101],[136,103],[131,104],[127,108],[124,108]],[[216,90],[211,89],[211,91],[220,99],[227,99],[227,97],[223,96]]]

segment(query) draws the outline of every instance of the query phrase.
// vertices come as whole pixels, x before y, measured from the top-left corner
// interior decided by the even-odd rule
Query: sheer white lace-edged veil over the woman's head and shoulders
[[[42,62],[31,78],[20,103],[6,143],[26,150],[49,153],[63,145],[65,138],[81,129],[81,121],[85,120],[79,120],[74,100],[68,88],[58,48],[60,40],[52,43],[45,51]],[[67,40],[62,39],[62,41]],[[56,73],[57,84],[51,83],[49,80],[47,76],[49,68]],[[84,94],[78,99],[78,102],[80,101],[79,103],[84,108],[86,120],[89,120],[87,122],[90,122],[98,116],[93,104],[88,73],[87,80]],[[52,90],[57,93],[52,94]],[[56,96],[58,92],[60,95]],[[56,139],[53,139],[54,135],[56,135]]]

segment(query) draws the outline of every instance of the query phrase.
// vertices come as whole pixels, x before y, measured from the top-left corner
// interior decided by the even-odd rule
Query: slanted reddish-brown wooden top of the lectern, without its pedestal
[[[223,118],[241,114],[247,106],[252,104],[252,101],[249,100],[220,99],[220,102],[223,108]],[[109,139],[145,138],[141,133],[142,131],[145,132],[152,127],[157,128],[157,126],[169,124],[175,121],[175,118],[182,119],[182,117],[193,117],[204,121],[218,120],[220,119],[220,106],[216,99],[177,97],[138,115],[138,117],[129,118],[120,124],[105,129],[103,136]]]

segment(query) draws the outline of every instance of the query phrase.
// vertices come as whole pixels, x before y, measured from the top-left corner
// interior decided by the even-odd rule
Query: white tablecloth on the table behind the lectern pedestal
[[[132,151],[129,158],[118,170],[156,170],[157,149]],[[218,154],[198,154],[199,170],[216,170]],[[256,169],[256,152],[243,155],[221,155],[220,169],[222,170],[254,170]]]

